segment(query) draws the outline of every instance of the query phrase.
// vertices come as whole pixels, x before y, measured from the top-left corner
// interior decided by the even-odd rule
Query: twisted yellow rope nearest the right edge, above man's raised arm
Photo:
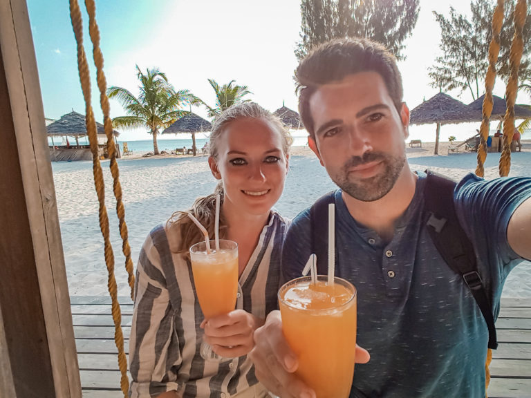
[[[503,118],[503,151],[500,158],[500,177],[509,175],[511,169],[511,141],[514,134],[514,103],[518,92],[518,69],[523,53],[522,31],[525,17],[528,14],[528,6],[525,0],[518,0],[514,8],[514,36],[512,37],[511,51],[509,55],[510,76],[505,88],[505,101],[507,110]]]

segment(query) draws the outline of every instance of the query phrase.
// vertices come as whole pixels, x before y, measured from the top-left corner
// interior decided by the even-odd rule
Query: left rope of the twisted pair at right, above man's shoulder
[[[485,176],[485,159],[487,158],[487,138],[489,137],[489,122],[492,114],[492,88],[496,80],[496,61],[500,53],[500,32],[503,25],[503,3],[504,0],[498,0],[498,5],[494,8],[492,16],[492,40],[489,46],[489,68],[485,76],[485,99],[483,99],[483,120],[479,129],[479,146],[478,146],[478,166],[476,167],[476,176]]]

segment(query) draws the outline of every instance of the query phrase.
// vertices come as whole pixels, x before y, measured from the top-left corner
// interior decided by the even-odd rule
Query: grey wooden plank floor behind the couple
[[[133,303],[120,297],[125,352]],[[120,371],[114,343],[111,299],[107,296],[72,296],[72,317],[84,398],[118,398]],[[499,348],[490,366],[489,398],[531,397],[531,300],[503,299],[496,322]]]

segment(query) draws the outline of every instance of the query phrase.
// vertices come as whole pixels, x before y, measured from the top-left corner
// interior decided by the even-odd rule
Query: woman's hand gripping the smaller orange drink
[[[236,358],[248,354],[254,347],[254,330],[263,325],[264,320],[244,310],[234,310],[225,315],[203,321],[206,343],[216,354],[225,358]]]

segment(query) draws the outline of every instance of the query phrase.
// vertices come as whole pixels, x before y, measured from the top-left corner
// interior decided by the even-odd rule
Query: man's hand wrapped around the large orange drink
[[[254,343],[249,356],[265,388],[282,398],[315,398],[315,392],[294,375],[299,363],[284,339],[279,311],[271,312],[265,324],[254,332]],[[356,363],[367,363],[369,359],[369,352],[356,345]]]

